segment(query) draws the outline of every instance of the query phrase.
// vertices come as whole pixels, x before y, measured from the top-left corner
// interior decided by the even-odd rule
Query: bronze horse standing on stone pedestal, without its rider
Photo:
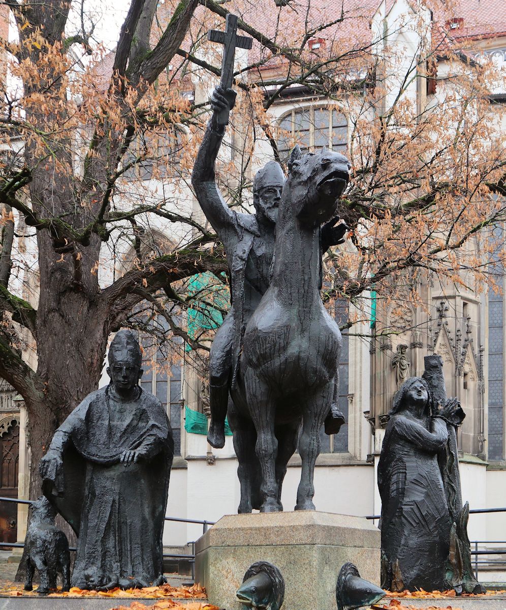
[[[341,332],[320,296],[320,226],[335,216],[349,162],[322,149],[288,162],[276,224],[273,275],[246,326],[229,423],[239,466],[238,512],[282,511],[288,460],[299,447],[295,510],[315,510],[313,474],[319,432],[329,413]],[[302,432],[301,432],[302,426]],[[299,440],[300,434],[300,440]]]

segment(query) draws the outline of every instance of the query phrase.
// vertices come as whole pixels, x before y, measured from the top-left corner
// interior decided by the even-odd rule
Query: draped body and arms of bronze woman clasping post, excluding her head
[[[451,520],[438,464],[446,422],[408,410],[392,415],[378,464],[384,587],[442,589]],[[385,579],[385,575],[388,574]]]

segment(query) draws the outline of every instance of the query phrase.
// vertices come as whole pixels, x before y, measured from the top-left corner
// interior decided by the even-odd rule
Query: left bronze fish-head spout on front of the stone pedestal
[[[279,610],[285,598],[285,581],[276,565],[257,561],[244,574],[236,595],[245,609]]]

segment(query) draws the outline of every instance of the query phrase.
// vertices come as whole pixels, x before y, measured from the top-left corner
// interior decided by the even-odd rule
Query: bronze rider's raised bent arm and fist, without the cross
[[[218,125],[216,115],[221,107],[226,107],[225,104],[231,109],[235,98],[232,90],[229,89],[226,93],[227,95],[223,95],[223,91],[219,89],[213,93],[211,100],[213,115],[207,124],[191,174],[191,184],[199,204],[220,239],[223,239],[223,232],[235,227],[235,215],[219,192],[215,178],[216,157],[225,133],[225,127]]]

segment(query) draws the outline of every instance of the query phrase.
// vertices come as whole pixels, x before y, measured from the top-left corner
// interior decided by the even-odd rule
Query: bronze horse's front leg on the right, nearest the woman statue
[[[309,398],[302,404],[302,433],[299,439],[299,453],[301,454],[302,472],[301,482],[297,490],[296,511],[314,511],[313,496],[315,485],[316,458],[320,452],[320,429],[329,412],[330,401],[334,389],[333,380],[330,381],[317,395]]]

